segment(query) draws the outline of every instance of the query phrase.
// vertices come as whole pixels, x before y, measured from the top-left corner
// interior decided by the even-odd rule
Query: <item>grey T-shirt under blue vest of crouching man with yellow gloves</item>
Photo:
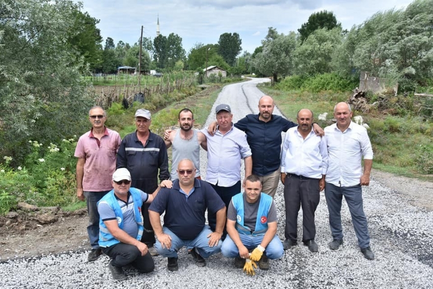
[[[247,202],[245,194],[243,194],[243,225],[248,227],[251,231],[256,229],[257,212],[259,211],[260,197],[255,203]],[[237,211],[231,201],[227,209],[227,219],[236,222]],[[274,200],[270,204],[269,213],[267,215],[267,223],[277,222],[277,210],[275,208]]]

